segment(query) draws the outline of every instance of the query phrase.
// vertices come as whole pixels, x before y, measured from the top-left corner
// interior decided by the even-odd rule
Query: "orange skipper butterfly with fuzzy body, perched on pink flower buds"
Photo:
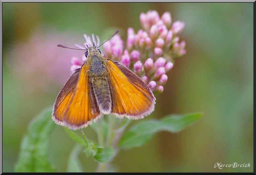
[[[140,119],[154,110],[155,97],[151,89],[122,63],[102,56],[100,46],[93,44],[86,49],[75,49],[85,50],[87,60],[73,71],[56,97],[52,111],[56,124],[76,130],[87,127],[104,114]]]

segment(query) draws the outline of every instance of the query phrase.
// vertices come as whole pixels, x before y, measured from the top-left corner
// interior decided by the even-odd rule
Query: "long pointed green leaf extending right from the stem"
[[[128,130],[120,139],[120,148],[133,148],[145,144],[156,132],[179,132],[192,125],[202,116],[202,113],[187,115],[168,115],[160,120],[145,120]]]

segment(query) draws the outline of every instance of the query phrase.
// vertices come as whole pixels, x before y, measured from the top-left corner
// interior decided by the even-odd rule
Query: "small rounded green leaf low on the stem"
[[[107,147],[107,148],[100,148],[97,147],[97,152],[93,156],[93,158],[98,161],[98,162],[108,162],[109,160],[112,159],[114,155],[114,148],[112,147]]]

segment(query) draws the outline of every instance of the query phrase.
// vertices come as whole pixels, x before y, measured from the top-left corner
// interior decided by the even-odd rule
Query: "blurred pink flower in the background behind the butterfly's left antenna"
[[[46,33],[47,31],[47,33]],[[52,29],[36,28],[25,42],[14,43],[5,60],[13,75],[25,86],[25,91],[49,91],[62,87],[71,72],[71,57],[81,57],[81,52],[63,50],[57,44],[74,43],[70,34],[60,34]]]

